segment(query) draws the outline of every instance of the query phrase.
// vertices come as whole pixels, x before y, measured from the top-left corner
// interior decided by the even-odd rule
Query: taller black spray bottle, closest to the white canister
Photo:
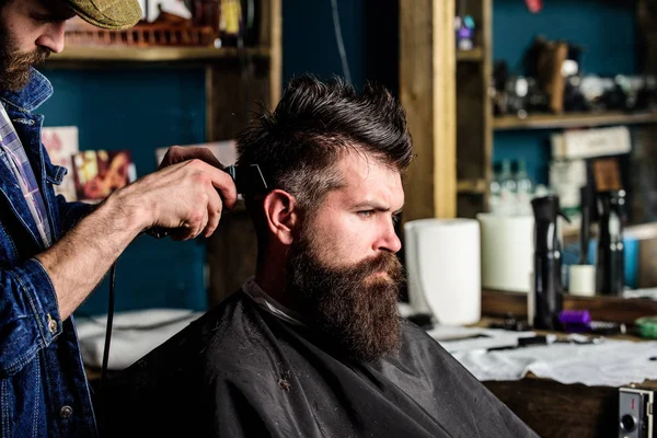
[[[563,309],[562,242],[558,197],[549,195],[531,201],[534,215],[533,327],[558,330]],[[530,292],[531,293],[531,292]],[[531,322],[531,321],[530,321]]]

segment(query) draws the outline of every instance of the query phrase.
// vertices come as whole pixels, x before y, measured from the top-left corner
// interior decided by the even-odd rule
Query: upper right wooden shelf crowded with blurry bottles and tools
[[[657,123],[656,76],[586,72],[583,50],[573,42],[537,36],[522,57],[521,70],[496,60],[491,89],[494,129]]]

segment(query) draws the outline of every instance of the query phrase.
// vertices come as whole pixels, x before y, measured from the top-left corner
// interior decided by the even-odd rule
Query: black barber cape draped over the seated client
[[[111,378],[102,437],[535,437],[410,322],[373,364],[239,291]]]

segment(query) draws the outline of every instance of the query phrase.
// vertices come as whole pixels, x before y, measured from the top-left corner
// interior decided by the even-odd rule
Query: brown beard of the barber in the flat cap
[[[45,62],[50,50],[37,47],[27,54],[19,53],[13,38],[0,26],[0,90],[20,91],[30,81],[32,67]]]

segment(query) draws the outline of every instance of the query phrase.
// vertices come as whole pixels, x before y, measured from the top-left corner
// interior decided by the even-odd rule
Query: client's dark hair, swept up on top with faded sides
[[[338,78],[322,82],[311,74],[292,79],[276,110],[257,115],[237,137],[238,164],[258,164],[307,212],[343,184],[335,163],[346,152],[403,172],[412,146],[405,111],[383,87],[367,84],[357,93]]]

